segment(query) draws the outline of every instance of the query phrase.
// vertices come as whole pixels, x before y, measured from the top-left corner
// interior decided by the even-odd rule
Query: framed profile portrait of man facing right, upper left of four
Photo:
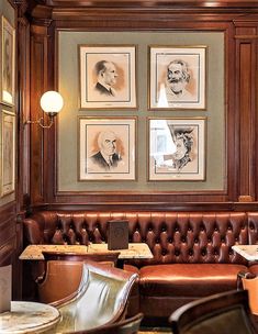
[[[79,45],[81,109],[136,108],[136,46]]]

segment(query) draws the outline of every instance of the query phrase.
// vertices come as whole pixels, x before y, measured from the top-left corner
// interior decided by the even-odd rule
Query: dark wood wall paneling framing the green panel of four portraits
[[[226,176],[223,191],[63,192],[57,182],[57,126],[21,127],[20,200],[27,209],[257,210],[257,27],[255,1],[29,1],[30,64],[20,87],[23,118],[42,116],[40,97],[56,87],[56,31],[217,31],[225,35]],[[26,58],[26,59],[27,59]],[[26,60],[23,59],[23,63]],[[215,82],[214,82],[215,85]],[[27,91],[30,90],[30,93]],[[29,114],[30,113],[30,114]],[[22,158],[21,158],[22,159]],[[26,188],[30,185],[29,189]]]

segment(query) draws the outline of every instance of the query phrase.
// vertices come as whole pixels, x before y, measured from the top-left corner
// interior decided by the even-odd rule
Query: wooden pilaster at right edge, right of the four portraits
[[[257,200],[257,22],[236,22],[236,113],[238,201]]]

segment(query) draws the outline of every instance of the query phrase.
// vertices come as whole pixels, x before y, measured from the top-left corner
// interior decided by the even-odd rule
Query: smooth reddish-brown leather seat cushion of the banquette
[[[237,264],[170,264],[139,269],[141,296],[203,297],[237,287]]]

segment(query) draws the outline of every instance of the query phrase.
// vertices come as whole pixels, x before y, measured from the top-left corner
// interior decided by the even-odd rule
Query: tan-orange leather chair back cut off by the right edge
[[[238,272],[242,286],[248,291],[249,307],[253,314],[258,315],[258,276],[251,272]]]

